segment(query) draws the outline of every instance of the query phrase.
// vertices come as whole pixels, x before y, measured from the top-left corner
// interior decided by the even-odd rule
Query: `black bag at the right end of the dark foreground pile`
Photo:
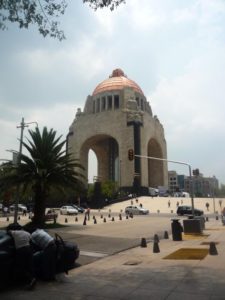
[[[55,234],[56,244],[56,272],[65,272],[74,267],[75,260],[79,257],[79,249],[75,243],[67,242]]]

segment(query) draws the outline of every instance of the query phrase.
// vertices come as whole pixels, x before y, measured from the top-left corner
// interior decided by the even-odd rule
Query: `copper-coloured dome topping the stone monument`
[[[93,92],[93,96],[107,91],[112,90],[122,90],[124,87],[130,87],[134,89],[139,94],[144,95],[141,88],[137,85],[136,82],[127,78],[124,72],[121,69],[115,69],[112,72],[112,75],[108,79],[102,81],[97,85]]]

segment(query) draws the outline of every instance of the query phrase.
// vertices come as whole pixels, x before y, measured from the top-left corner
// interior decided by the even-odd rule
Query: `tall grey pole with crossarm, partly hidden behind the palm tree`
[[[21,123],[19,126],[17,126],[17,128],[20,128],[20,144],[19,144],[19,152],[18,152],[18,156],[17,156],[17,162],[16,165],[17,167],[19,167],[20,163],[21,163],[21,154],[22,154],[22,146],[23,146],[23,132],[24,132],[24,128],[25,127],[29,127],[30,124],[36,124],[36,127],[38,127],[38,123],[37,122],[28,122],[25,123],[24,122],[24,118],[22,118]],[[17,224],[17,218],[18,218],[18,204],[19,204],[19,184],[17,184],[16,187],[16,199],[15,199],[15,211],[14,211],[14,224]]]

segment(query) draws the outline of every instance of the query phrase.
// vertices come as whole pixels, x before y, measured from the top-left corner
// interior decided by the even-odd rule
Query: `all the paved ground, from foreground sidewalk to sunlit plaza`
[[[219,199],[195,199],[196,208],[203,209],[209,221],[205,223],[204,235],[184,236],[182,241],[172,240],[171,218],[175,216],[177,201],[190,204],[190,199],[170,198],[170,207],[168,200],[141,197],[138,201],[150,210],[150,215],[128,220],[124,215],[119,220],[118,214],[131,200],[100,212],[93,210],[91,217],[97,216],[97,224],[91,217],[85,226],[80,215],[78,222],[69,217],[69,226],[57,232],[65,239],[77,241],[81,266],[69,275],[59,274],[54,282],[38,281],[33,291],[7,290],[1,293],[1,299],[225,299],[225,227],[214,215],[214,206],[215,211],[220,211]],[[210,203],[209,211],[206,201]],[[105,223],[101,214],[106,217]],[[115,221],[109,214],[114,214]],[[21,222],[26,222],[22,218]],[[65,216],[60,220],[64,224]],[[4,223],[1,220],[0,226]],[[163,237],[165,230],[169,239]],[[158,253],[153,251],[156,233],[160,236]],[[142,237],[147,239],[146,248],[140,247]],[[181,248],[209,250],[210,242],[216,245],[217,255],[209,252],[203,259],[165,259]]]

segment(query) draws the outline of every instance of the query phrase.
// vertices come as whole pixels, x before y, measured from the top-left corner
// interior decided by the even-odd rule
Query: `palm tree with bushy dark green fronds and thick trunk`
[[[79,162],[66,153],[66,141],[56,137],[56,131],[39,128],[29,130],[30,140],[23,142],[29,156],[21,154],[18,166],[8,165],[6,176],[1,178],[2,187],[19,185],[20,191],[33,191],[34,226],[43,226],[45,222],[45,206],[51,188],[74,189],[82,186],[82,175],[77,169],[83,169]]]

